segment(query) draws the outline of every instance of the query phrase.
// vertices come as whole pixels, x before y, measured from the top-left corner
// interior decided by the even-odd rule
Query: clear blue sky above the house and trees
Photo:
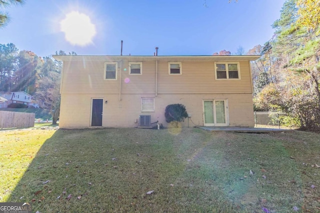
[[[11,17],[0,43],[14,43],[38,56],[55,51],[78,55],[211,55],[235,53],[269,40],[284,0],[25,0],[0,8]],[[88,15],[96,34],[86,46],[72,45],[60,31],[68,12]]]

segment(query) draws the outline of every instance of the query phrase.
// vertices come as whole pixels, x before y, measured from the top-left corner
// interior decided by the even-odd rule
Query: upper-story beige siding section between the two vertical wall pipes
[[[130,75],[129,62],[123,61],[121,73],[121,94],[154,94],[155,93],[155,61],[142,62],[142,74]]]

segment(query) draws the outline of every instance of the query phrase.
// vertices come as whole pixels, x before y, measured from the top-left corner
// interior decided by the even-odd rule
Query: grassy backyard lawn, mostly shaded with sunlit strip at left
[[[2,131],[0,159],[0,202],[40,213],[320,212],[315,133]]]

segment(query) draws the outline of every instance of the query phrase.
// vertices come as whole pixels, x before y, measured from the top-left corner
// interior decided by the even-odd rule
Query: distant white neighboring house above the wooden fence
[[[0,104],[0,108],[6,108],[11,103],[25,104],[29,108],[39,108],[38,104],[32,103],[32,96],[26,92],[0,92],[0,96],[7,99],[4,103]]]

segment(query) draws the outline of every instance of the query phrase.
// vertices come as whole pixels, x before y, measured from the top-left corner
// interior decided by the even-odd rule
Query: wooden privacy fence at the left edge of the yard
[[[34,113],[0,111],[0,128],[27,128],[34,126]]]

